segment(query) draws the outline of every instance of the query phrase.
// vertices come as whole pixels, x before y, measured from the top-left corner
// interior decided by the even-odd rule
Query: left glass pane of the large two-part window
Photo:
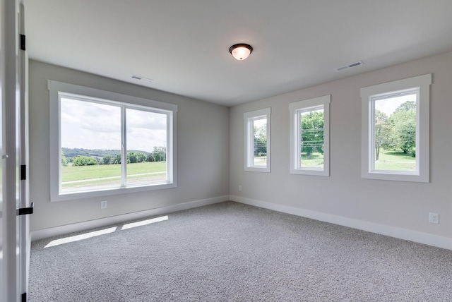
[[[65,97],[60,104],[61,192],[120,186],[121,109]]]

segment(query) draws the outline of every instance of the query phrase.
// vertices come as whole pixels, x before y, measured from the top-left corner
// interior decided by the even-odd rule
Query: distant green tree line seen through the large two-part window
[[[66,152],[73,155],[74,152],[81,151],[82,154],[68,156]],[[72,152],[71,152],[72,151]],[[93,151],[93,152],[90,152]],[[89,150],[89,149],[69,149],[61,148],[61,165],[69,166],[94,166],[97,164],[121,164],[120,150]],[[127,164],[135,164],[138,162],[165,162],[167,156],[166,147],[154,147],[152,152],[145,151],[129,151],[127,152]]]

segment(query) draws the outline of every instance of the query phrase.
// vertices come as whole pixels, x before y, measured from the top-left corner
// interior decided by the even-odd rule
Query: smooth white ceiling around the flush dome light
[[[30,0],[25,33],[30,59],[233,106],[451,51],[451,13],[451,0]]]

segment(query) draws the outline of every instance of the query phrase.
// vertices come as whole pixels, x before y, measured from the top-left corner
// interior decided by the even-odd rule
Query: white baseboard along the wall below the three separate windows
[[[290,207],[288,205],[278,205],[275,203],[268,203],[261,200],[254,200],[251,198],[244,198],[235,195],[230,195],[230,200],[235,201],[237,203],[244,203],[246,205],[254,205],[255,207],[263,207],[264,209],[268,210],[283,212],[301,217],[307,217],[311,219],[320,220],[322,222],[339,224],[344,227],[351,227],[363,231],[370,231],[376,234],[391,236],[403,240],[427,244],[429,246],[436,246],[438,248],[447,248],[449,250],[452,250],[452,238],[421,233],[419,231],[411,231],[408,229],[400,229],[397,227],[389,227],[383,224],[376,224],[374,222],[364,222],[362,220],[340,217],[321,212],[303,210],[298,207]]]

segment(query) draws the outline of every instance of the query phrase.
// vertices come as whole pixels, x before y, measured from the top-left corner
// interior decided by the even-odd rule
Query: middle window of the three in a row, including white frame
[[[290,174],[329,176],[331,95],[290,103]]]

